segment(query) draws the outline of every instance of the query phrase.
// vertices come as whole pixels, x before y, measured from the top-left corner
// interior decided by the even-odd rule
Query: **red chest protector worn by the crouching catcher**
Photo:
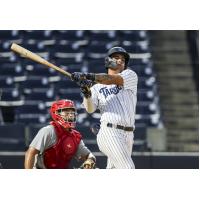
[[[44,151],[44,165],[48,169],[66,169],[74,157],[81,141],[81,134],[76,130],[67,132],[56,122],[51,122],[57,135],[55,145]]]

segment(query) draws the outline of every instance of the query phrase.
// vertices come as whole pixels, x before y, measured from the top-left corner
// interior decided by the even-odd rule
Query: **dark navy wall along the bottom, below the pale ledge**
[[[133,160],[137,169],[198,169],[199,157],[197,155],[185,156],[159,156],[159,155],[136,155]],[[0,163],[4,169],[23,169],[24,156],[0,155]],[[73,161],[71,168],[78,168],[81,163]],[[100,169],[106,167],[106,157],[97,156],[97,166]]]

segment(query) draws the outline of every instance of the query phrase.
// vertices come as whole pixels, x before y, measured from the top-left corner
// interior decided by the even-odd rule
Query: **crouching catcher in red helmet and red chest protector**
[[[73,101],[59,100],[50,109],[53,121],[39,130],[25,154],[26,169],[65,169],[72,158],[85,161],[83,168],[93,168],[95,157],[76,131]],[[36,159],[35,159],[36,158]]]

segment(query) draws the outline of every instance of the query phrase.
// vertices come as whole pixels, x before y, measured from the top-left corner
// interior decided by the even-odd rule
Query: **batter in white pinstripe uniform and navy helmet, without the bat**
[[[129,59],[125,49],[113,47],[105,59],[108,74],[72,73],[72,80],[81,86],[87,112],[101,112],[97,144],[108,157],[108,169],[135,168],[131,154],[138,77],[127,68]],[[89,89],[91,81],[97,84]]]

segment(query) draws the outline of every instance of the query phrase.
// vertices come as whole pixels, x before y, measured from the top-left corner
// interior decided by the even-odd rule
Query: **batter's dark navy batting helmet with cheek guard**
[[[112,59],[112,55],[115,54],[115,53],[118,53],[118,54],[121,54],[124,56],[125,58],[125,69],[128,67],[128,62],[129,62],[129,59],[130,59],[130,55],[127,53],[127,51],[122,48],[122,47],[113,47],[111,48],[108,53],[107,53],[107,57],[105,58],[105,63],[107,62],[111,62],[111,59]],[[108,64],[105,64],[106,65],[106,68],[108,68]],[[117,65],[116,65],[117,66]],[[109,65],[109,68],[114,68],[116,67],[115,64],[111,62],[111,65]]]

